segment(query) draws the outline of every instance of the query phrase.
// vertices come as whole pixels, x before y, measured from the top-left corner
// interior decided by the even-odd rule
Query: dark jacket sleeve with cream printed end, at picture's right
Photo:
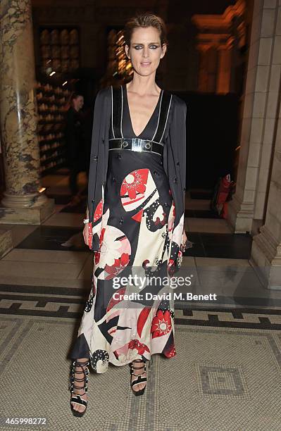
[[[170,192],[173,205],[169,218],[172,220],[170,230],[170,250],[168,271],[170,275],[180,268],[182,251],[180,244],[185,223],[185,180],[186,180],[186,117],[187,105],[185,101],[173,96],[173,115],[167,137],[167,169]]]

